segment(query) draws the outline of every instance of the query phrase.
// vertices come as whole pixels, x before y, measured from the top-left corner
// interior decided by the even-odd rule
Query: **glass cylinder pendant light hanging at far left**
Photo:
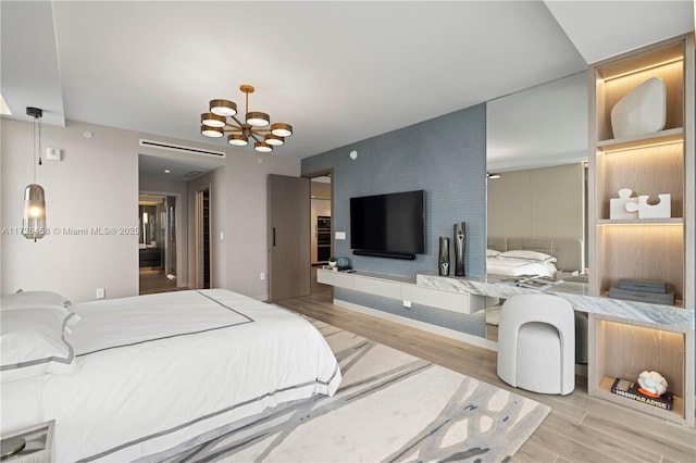
[[[44,187],[36,183],[36,165],[41,165],[41,117],[44,111],[38,108],[27,108],[26,114],[34,117],[32,175],[33,183],[24,189],[24,218],[22,220],[22,235],[27,239],[41,239],[46,236],[46,195]]]

